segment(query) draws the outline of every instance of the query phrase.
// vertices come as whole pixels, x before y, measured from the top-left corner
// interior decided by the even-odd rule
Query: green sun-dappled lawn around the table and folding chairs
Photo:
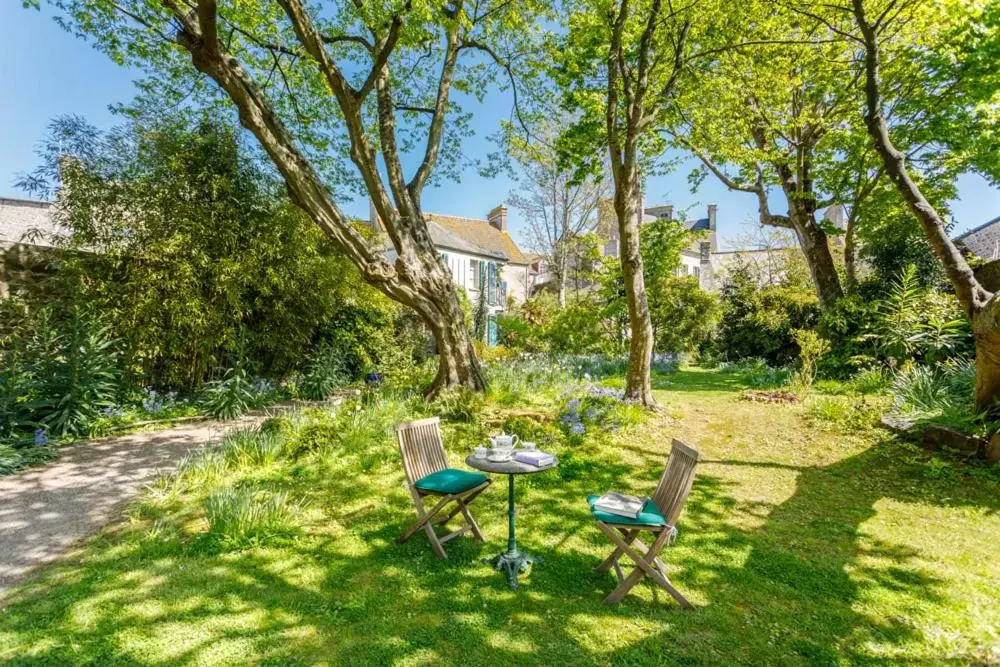
[[[500,405],[496,396],[511,403],[510,392],[497,391],[474,406],[472,422],[446,426],[456,464],[504,423],[537,428],[561,456],[556,471],[518,482],[522,546],[545,557],[518,592],[479,560],[504,547],[505,485],[474,506],[486,544],[460,538],[440,561],[422,536],[396,543],[413,511],[390,429],[424,409],[389,401],[272,424],[285,438],[280,453],[270,440],[230,443],[153,485],[128,521],[9,595],[0,661],[1000,659],[995,470],[931,459],[872,429],[856,413],[877,414],[877,397],[825,388],[801,405],[753,403],[738,398],[744,376],[700,369],[660,376],[656,387],[662,414],[616,433],[591,431],[575,446],[551,424],[532,426],[532,415],[558,412],[559,392],[526,407]],[[697,609],[682,612],[646,584],[603,606],[614,580],[593,567],[610,546],[583,499],[611,488],[651,491],[671,437],[704,457],[667,551],[674,583]],[[295,530],[282,521],[273,539],[249,547],[206,541],[205,499],[223,488],[287,498]]]

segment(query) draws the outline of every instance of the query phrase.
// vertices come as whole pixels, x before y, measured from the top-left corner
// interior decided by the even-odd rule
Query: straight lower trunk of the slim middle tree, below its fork
[[[615,213],[618,217],[618,238],[625,297],[628,302],[629,343],[628,373],[625,376],[625,397],[648,408],[656,407],[650,372],[653,362],[653,325],[646,301],[646,281],[643,277],[642,255],[639,252],[638,174],[634,171],[615,190]]]

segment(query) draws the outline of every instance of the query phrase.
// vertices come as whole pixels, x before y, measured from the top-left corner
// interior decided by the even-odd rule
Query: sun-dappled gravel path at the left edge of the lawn
[[[144,484],[189,451],[259,419],[79,442],[44,468],[0,477],[0,597],[31,569],[117,518]]]

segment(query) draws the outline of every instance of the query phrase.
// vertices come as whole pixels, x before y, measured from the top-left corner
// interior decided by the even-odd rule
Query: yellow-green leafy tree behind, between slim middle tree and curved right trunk
[[[700,160],[695,187],[711,174],[756,198],[760,224],[794,232],[828,307],[843,287],[830,248],[839,230],[819,215],[834,203],[824,170],[839,159],[856,95],[839,77],[844,47],[783,3],[741,3],[729,20],[744,27],[746,46],[720,53],[680,91],[666,134]],[[772,192],[787,212],[772,211]]]

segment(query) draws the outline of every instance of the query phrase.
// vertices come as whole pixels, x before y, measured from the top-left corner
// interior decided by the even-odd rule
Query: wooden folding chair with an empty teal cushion
[[[444,445],[441,442],[440,422],[439,417],[431,417],[406,422],[396,427],[399,453],[403,457],[403,469],[406,471],[406,486],[410,489],[413,504],[417,508],[417,522],[399,536],[399,542],[405,542],[418,530],[423,529],[431,541],[434,553],[441,558],[447,558],[444,543],[470,530],[480,541],[486,541],[476,520],[472,518],[468,505],[493,480],[483,473],[448,467]],[[428,496],[437,499],[430,510],[424,506],[424,498]],[[445,508],[451,503],[455,503],[456,506],[445,514]],[[465,519],[464,525],[452,533],[439,537],[434,527],[443,526],[459,513]]]

